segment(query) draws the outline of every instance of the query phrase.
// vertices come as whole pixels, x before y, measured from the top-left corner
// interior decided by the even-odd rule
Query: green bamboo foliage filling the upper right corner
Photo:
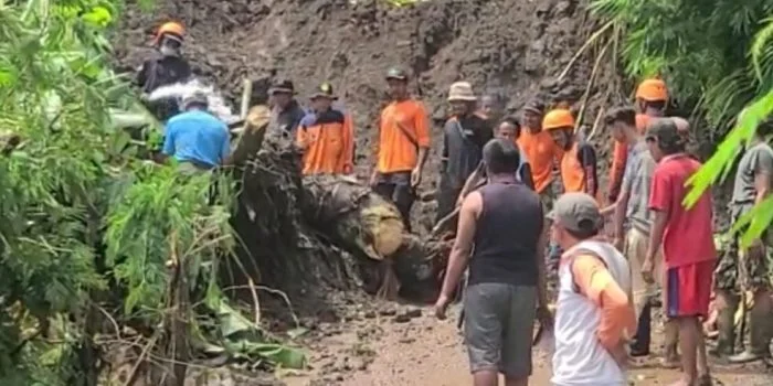
[[[752,45],[773,14],[771,1],[593,0],[592,9],[623,32],[626,75],[661,75],[674,98],[697,106],[720,136],[743,106],[773,87],[773,47],[764,39]]]

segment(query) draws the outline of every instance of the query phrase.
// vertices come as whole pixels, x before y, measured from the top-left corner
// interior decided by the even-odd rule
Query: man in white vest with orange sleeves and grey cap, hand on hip
[[[552,384],[625,386],[626,342],[636,330],[628,262],[597,238],[604,222],[592,196],[563,194],[548,217],[552,240],[565,250],[559,266]]]

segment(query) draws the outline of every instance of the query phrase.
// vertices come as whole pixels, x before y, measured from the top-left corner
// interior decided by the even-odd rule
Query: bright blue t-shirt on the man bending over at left
[[[215,167],[231,152],[229,127],[203,110],[179,114],[167,121],[163,153],[178,161]]]

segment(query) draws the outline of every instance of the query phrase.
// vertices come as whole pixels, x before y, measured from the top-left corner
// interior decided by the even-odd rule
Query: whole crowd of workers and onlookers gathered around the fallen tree
[[[138,76],[144,90],[190,75],[180,58],[183,36],[177,23],[159,30],[161,56]],[[405,71],[389,69],[384,85],[391,101],[378,119],[369,183],[395,204],[410,228],[433,130],[424,104],[410,94]],[[296,101],[289,81],[277,82],[269,94],[272,130],[295,139],[304,174],[352,173],[352,119],[335,106],[332,85],[322,83],[309,96],[308,110]],[[720,333],[710,353],[729,362],[770,357],[766,235],[748,247],[735,236],[718,254],[711,192],[689,208],[682,205],[701,163],[686,150],[689,122],[666,116],[664,81],[642,82],[634,104],[607,110],[603,122],[614,141],[604,189],[596,149],[565,101],[549,107],[534,98],[519,115],[506,116],[504,96],[479,98],[467,82],[451,85],[447,101],[437,218],[456,210],[459,217],[435,310],[445,318],[468,271],[464,335],[475,385],[497,385],[499,374],[509,386],[528,384],[536,321],[555,337],[554,385],[627,385],[629,357],[652,355],[658,292],[666,317],[661,364],[681,367],[676,385],[712,383],[701,324],[712,296]],[[230,162],[227,129],[205,110],[205,99],[192,96],[167,121],[163,153],[194,170]],[[740,160],[729,205],[733,219],[770,192],[773,149],[763,137],[769,129],[761,128]],[[558,279],[557,299],[547,292],[550,271]],[[751,291],[754,302],[751,343],[737,353],[733,315],[741,291]]]

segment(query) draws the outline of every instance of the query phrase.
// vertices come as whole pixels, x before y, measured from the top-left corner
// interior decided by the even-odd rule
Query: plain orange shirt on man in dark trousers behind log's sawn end
[[[414,99],[392,101],[381,111],[375,142],[380,173],[411,171],[419,148],[430,148],[430,122],[424,104]]]

